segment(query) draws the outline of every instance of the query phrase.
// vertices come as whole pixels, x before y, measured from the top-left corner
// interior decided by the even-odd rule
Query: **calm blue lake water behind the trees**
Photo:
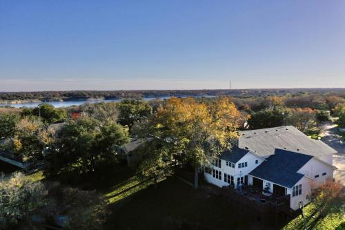
[[[181,96],[181,97],[187,97],[187,96]],[[201,96],[196,96],[196,97],[201,97]],[[214,97],[214,96],[202,96],[202,97]],[[159,97],[159,99],[168,99],[169,97]],[[145,101],[151,101],[152,99],[156,99],[156,97],[144,97]],[[119,102],[121,101],[121,99],[99,99],[99,100],[92,100],[92,101],[88,101],[88,100],[81,100],[81,101],[70,101],[70,102],[46,102],[48,104],[51,104],[52,106],[55,106],[55,108],[61,108],[61,107],[68,107],[68,106],[79,106],[81,104],[84,103],[90,103],[90,104],[94,104],[94,103],[99,103],[99,102]],[[42,102],[28,102],[28,103],[23,103],[23,104],[1,104],[0,103],[0,107],[1,106],[12,106],[15,108],[21,108],[21,107],[28,107],[28,108],[34,108],[37,107],[39,104],[41,104]]]

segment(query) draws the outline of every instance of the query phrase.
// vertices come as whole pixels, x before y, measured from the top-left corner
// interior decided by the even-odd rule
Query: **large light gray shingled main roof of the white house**
[[[262,157],[273,155],[275,148],[315,157],[337,153],[321,140],[313,140],[293,126],[242,131],[240,135],[239,148],[247,147]]]

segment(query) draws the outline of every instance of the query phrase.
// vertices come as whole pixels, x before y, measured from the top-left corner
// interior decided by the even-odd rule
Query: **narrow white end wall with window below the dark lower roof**
[[[302,184],[302,194],[293,197],[293,188],[288,189],[290,193],[290,208],[293,210],[299,209],[299,202],[303,202],[303,205],[309,203],[308,195],[311,195],[311,179],[303,177],[295,185]]]

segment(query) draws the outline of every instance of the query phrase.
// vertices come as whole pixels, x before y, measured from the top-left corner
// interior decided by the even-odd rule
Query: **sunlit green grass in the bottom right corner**
[[[304,213],[306,215],[306,226],[307,229],[315,229],[315,230],[333,230],[333,229],[345,229],[340,225],[345,222],[344,218],[344,210],[342,208],[342,204],[344,204],[344,200],[334,200],[331,205],[329,211],[326,215],[322,215],[320,211],[315,207],[315,204],[311,202],[304,208]],[[313,216],[315,218],[313,218]],[[298,230],[304,229],[304,220],[302,215],[299,215],[297,218],[289,222],[285,227],[284,230]]]

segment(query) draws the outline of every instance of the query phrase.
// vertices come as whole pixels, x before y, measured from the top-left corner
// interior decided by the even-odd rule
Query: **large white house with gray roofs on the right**
[[[204,169],[208,182],[217,186],[253,185],[262,193],[290,196],[290,208],[308,204],[311,186],[333,178],[336,151],[312,140],[293,126],[239,133],[237,145],[221,153]]]

